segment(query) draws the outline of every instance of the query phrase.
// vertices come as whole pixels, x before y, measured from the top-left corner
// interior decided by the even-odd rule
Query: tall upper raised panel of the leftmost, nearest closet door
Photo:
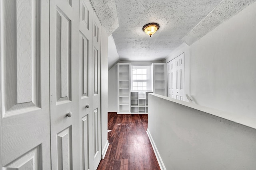
[[[35,10],[40,2],[21,2],[2,2],[5,10],[2,17],[6,17],[2,21],[6,34],[2,37],[6,44],[3,49],[6,63],[3,72],[6,77],[4,116],[40,108],[40,37],[37,35],[40,31],[37,22],[40,20],[36,20],[39,11]],[[23,8],[26,11],[22,13]]]

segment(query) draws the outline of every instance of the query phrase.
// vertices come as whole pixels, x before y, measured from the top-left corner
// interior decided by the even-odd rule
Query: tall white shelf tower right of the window
[[[166,63],[153,63],[153,92],[166,96]]]

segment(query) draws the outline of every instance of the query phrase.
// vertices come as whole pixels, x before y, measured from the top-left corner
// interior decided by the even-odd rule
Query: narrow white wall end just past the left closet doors
[[[101,149],[108,149],[108,35],[101,27]]]

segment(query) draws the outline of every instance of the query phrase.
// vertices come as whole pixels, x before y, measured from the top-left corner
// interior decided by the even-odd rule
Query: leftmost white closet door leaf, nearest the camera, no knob
[[[0,9],[0,168],[49,170],[49,1]]]

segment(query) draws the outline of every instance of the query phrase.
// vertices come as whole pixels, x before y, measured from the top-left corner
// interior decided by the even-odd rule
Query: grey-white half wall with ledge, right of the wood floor
[[[162,169],[255,169],[256,119],[251,128],[233,114],[233,121],[227,120],[224,111],[157,94],[148,97],[147,132]]]

